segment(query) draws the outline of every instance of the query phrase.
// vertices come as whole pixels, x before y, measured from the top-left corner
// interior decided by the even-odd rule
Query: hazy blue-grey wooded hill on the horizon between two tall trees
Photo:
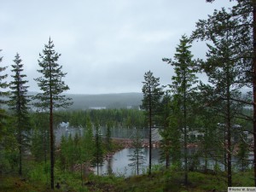
[[[138,108],[143,100],[143,93],[67,94],[67,96],[73,99],[71,109]]]

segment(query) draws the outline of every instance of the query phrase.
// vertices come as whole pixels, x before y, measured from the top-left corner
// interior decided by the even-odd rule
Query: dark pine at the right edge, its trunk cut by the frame
[[[207,0],[212,3],[214,0]],[[236,5],[230,9],[229,20],[236,21],[236,25],[223,26],[222,21],[227,20],[223,15],[218,15],[217,10],[210,16],[208,20],[200,20],[197,25],[196,32],[193,32],[192,38],[200,38],[201,40],[214,40],[219,32],[236,31],[236,35],[232,38],[232,52],[237,55],[233,58],[236,62],[240,62],[240,70],[243,72],[241,84],[247,83],[247,86],[253,88],[253,152],[254,152],[254,185],[256,186],[256,2],[254,0],[236,0]],[[220,21],[220,24],[218,24]],[[217,24],[217,25],[216,25]],[[212,31],[213,29],[213,31]],[[245,103],[245,101],[243,101]],[[249,104],[249,102],[247,102]]]

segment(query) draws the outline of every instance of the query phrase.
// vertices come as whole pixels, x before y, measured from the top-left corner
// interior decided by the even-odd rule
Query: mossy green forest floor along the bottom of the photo
[[[68,176],[66,174],[69,174]],[[79,175],[65,173],[61,176],[65,182],[61,182],[61,188],[50,190],[49,184],[40,181],[32,182],[17,176],[0,176],[0,191],[2,192],[85,192],[85,191],[112,191],[112,192],[202,192],[202,191],[227,191],[226,175],[205,174],[201,172],[189,172],[189,184],[183,184],[183,172],[154,172],[150,177],[140,175],[134,177],[95,176],[84,177],[83,186]],[[238,172],[233,174],[233,186],[252,187],[253,172]]]

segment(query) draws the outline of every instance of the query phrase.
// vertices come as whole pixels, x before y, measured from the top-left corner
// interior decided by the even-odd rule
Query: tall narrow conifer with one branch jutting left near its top
[[[183,111],[182,127],[183,127],[183,149],[184,149],[184,183],[188,184],[188,128],[189,119],[191,119],[191,106],[193,103],[193,95],[195,95],[195,84],[197,83],[195,76],[195,61],[192,61],[193,55],[189,50],[189,38],[185,35],[180,39],[180,44],[177,45],[174,60],[164,58],[168,64],[174,67],[176,76],[172,76],[172,84],[170,85],[172,93],[180,104],[180,109]],[[194,114],[195,116],[195,114]]]

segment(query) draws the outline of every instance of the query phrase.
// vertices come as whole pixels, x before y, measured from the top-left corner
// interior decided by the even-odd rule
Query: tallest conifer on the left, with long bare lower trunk
[[[42,76],[35,79],[43,93],[38,93],[35,97],[40,102],[36,103],[38,107],[43,107],[49,112],[49,136],[50,136],[50,187],[54,189],[54,108],[67,108],[71,105],[70,99],[61,95],[68,86],[62,80],[67,73],[61,72],[62,66],[57,63],[61,54],[55,52],[55,45],[49,38],[48,44],[44,45],[43,54],[39,54],[38,65],[41,69],[38,73]]]

